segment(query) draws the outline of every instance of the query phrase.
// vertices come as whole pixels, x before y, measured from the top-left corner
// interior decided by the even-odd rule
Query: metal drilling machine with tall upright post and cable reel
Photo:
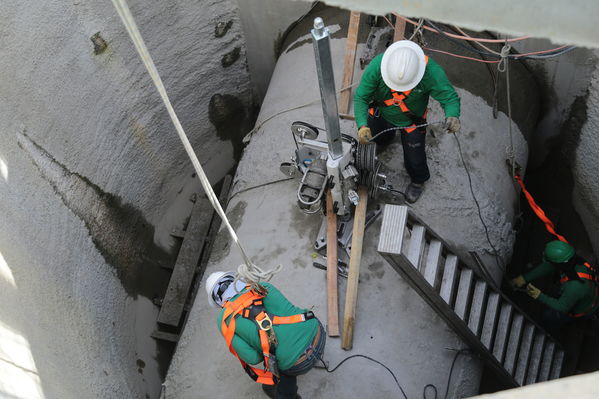
[[[281,171],[290,177],[301,176],[297,190],[299,208],[305,213],[317,213],[326,209],[326,190],[331,190],[333,210],[339,216],[340,244],[349,251],[352,230],[352,206],[358,204],[356,192],[358,185],[368,187],[369,196],[376,199],[380,191],[397,193],[386,182],[381,172],[381,162],[376,156],[374,143],[361,144],[341,133],[335,79],[331,62],[329,30],[322,18],[314,20],[311,31],[318,83],[322,100],[325,129],[319,129],[309,123],[293,122],[291,133],[295,142],[295,153],[291,162],[283,162]],[[326,141],[318,140],[319,130],[326,131]],[[366,225],[370,224],[380,210],[367,215]],[[316,249],[325,245],[326,221],[316,240]]]

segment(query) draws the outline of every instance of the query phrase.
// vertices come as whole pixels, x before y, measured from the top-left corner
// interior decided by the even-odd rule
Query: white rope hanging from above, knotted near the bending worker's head
[[[131,40],[133,41],[133,44],[135,45],[135,48],[137,49],[139,56],[141,57],[141,60],[143,61],[144,65],[146,66],[146,69],[148,70],[148,73],[150,74],[152,81],[154,82],[154,86],[156,86],[156,90],[158,90],[158,93],[160,94],[160,97],[162,98],[162,101],[164,102],[164,106],[166,107],[166,110],[168,111],[168,114],[171,117],[173,124],[175,125],[177,134],[179,135],[179,138],[181,139],[181,142],[183,143],[183,146],[185,147],[185,151],[187,152],[187,155],[191,159],[191,163],[193,164],[193,167],[194,167],[196,173],[198,174],[198,177],[200,178],[200,182],[202,183],[202,187],[204,188],[204,191],[206,192],[206,195],[208,196],[210,203],[214,207],[218,216],[220,216],[220,218],[225,223],[225,226],[226,226],[227,230],[229,231],[229,234],[231,235],[233,242],[237,245],[237,247],[239,248],[239,251],[241,252],[241,256],[243,257],[244,264],[239,266],[239,269],[237,272],[238,273],[237,278],[252,284],[253,287],[258,287],[260,281],[263,281],[263,280],[268,281],[275,273],[278,273],[281,270],[282,266],[277,265],[277,267],[275,267],[272,270],[263,271],[262,269],[260,269],[258,266],[256,266],[252,262],[250,257],[247,255],[247,253],[243,249],[243,246],[241,245],[241,242],[239,241],[239,237],[237,237],[235,230],[233,229],[233,227],[229,223],[229,220],[227,219],[227,215],[225,214],[225,211],[220,206],[220,203],[218,202],[218,198],[217,198],[216,194],[214,193],[214,191],[212,190],[210,181],[208,180],[208,178],[206,177],[206,174],[204,173],[204,170],[202,169],[202,165],[200,164],[200,161],[198,160],[198,157],[196,156],[196,154],[193,150],[193,147],[191,146],[191,143],[189,142],[189,139],[187,138],[187,135],[185,134],[185,131],[183,130],[183,126],[181,126],[181,122],[179,122],[179,118],[177,117],[177,114],[175,113],[175,110],[173,109],[173,106],[168,98],[166,89],[164,87],[164,84],[162,83],[162,79],[160,78],[160,75],[158,74],[156,65],[154,65],[154,61],[152,60],[152,57],[150,57],[150,53],[148,52],[148,49],[143,41],[143,38],[141,37],[139,29],[137,28],[135,20],[133,19],[133,15],[131,15],[131,11],[129,10],[129,7],[127,6],[126,1],[125,0],[112,0],[112,4],[114,5],[119,16],[121,17],[121,20],[123,21],[123,24],[125,25],[125,28],[127,28],[127,32],[129,32],[129,36],[131,36]]]

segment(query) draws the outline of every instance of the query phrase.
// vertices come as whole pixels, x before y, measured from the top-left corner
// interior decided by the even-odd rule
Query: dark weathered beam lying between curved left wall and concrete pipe
[[[158,314],[159,323],[175,327],[179,325],[211,218],[210,201],[198,195]]]

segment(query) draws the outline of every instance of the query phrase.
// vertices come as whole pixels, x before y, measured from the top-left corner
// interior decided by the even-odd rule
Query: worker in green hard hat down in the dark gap
[[[530,284],[531,281],[560,272],[560,295],[546,295]],[[580,317],[589,317],[599,308],[597,274],[591,265],[576,256],[574,247],[562,241],[551,241],[545,246],[543,263],[524,275],[510,281],[513,288],[526,286],[527,294],[547,305],[544,319],[557,327]]]

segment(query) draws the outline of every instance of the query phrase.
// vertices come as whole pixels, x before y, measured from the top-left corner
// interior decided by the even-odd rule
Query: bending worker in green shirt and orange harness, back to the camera
[[[297,376],[322,358],[325,332],[311,311],[289,302],[272,284],[260,289],[235,280],[232,272],[215,272],[206,280],[211,306],[229,351],[270,398],[301,399]],[[264,362],[263,368],[253,367]]]

